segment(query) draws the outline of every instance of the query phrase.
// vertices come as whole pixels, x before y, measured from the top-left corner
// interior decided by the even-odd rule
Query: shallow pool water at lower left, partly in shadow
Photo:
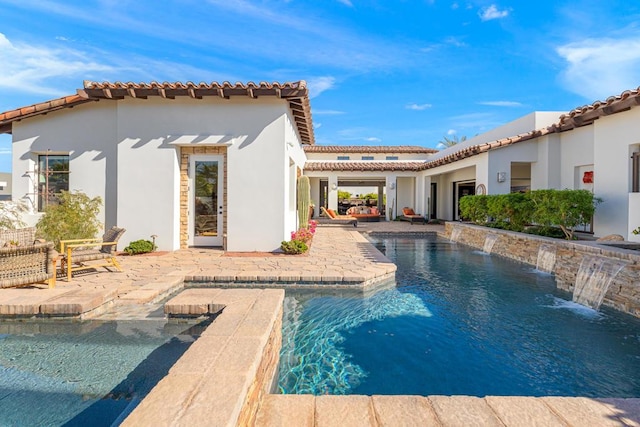
[[[118,425],[202,326],[0,322],[0,425]]]

